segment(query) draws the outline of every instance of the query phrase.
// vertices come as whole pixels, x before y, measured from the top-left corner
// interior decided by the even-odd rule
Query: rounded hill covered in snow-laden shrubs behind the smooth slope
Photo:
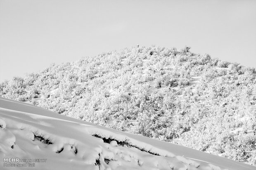
[[[256,165],[254,68],[134,47],[15,77],[0,94],[62,115]]]

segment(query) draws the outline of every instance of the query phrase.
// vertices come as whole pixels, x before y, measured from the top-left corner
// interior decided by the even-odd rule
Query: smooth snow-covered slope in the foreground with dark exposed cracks
[[[44,159],[31,164],[38,170],[255,170],[251,165],[0,97],[0,169],[31,169],[4,167],[9,164],[4,158]]]

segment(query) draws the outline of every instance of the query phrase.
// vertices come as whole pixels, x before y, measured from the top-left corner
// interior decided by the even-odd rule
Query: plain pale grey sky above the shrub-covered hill
[[[0,0],[0,82],[137,44],[256,67],[256,1]]]

